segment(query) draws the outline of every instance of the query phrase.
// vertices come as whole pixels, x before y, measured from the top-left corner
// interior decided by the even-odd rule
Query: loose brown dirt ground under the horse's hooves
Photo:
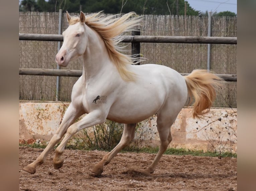
[[[53,168],[54,151],[35,174],[22,170],[42,150],[19,147],[19,190],[237,190],[237,158],[163,155],[155,172],[144,175],[139,170],[149,166],[155,154],[118,153],[102,175],[95,175],[91,168],[107,152],[65,150],[64,164],[58,170]]]

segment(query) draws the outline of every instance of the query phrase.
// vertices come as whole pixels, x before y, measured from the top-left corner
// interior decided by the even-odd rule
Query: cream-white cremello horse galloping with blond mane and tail
[[[56,62],[66,67],[71,60],[82,56],[83,74],[73,87],[71,104],[56,133],[24,170],[35,173],[36,167],[44,162],[65,133],[56,148],[55,169],[63,165],[61,154],[76,132],[102,124],[106,119],[124,123],[119,144],[91,170],[101,174],[104,165],[134,138],[136,123],[156,113],[160,147],[152,164],[144,170],[153,173],[172,140],[170,127],[186,100],[194,97],[193,116],[200,118],[209,111],[221,79],[206,70],[194,70],[183,77],[166,66],[132,65],[134,57],[120,53],[117,44],[122,40],[120,34],[138,26],[141,18],[134,13],[105,17],[99,13],[85,16],[81,12],[80,17],[71,17],[67,12],[66,16],[69,27],[63,32],[63,45]],[[102,97],[104,101],[100,101]],[[84,113],[87,115],[74,123]]]

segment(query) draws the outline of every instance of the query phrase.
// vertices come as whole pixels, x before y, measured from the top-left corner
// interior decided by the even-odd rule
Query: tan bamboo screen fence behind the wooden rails
[[[72,14],[71,15],[75,15]],[[77,14],[78,15],[78,14]],[[197,16],[144,15],[141,35],[152,36],[207,36],[208,18]],[[68,27],[62,14],[62,31]],[[58,34],[58,12],[20,12],[19,32]],[[131,34],[128,34],[131,35]],[[213,17],[212,36],[236,37],[236,17]],[[130,43],[123,43],[131,50]],[[211,71],[216,74],[237,73],[237,45],[211,45]],[[130,54],[127,51],[126,54]],[[207,69],[207,44],[140,43],[140,53],[147,58],[141,64],[160,64],[180,73]],[[19,41],[19,67],[56,69],[57,42]],[[67,68],[82,70],[82,59]],[[59,100],[70,101],[77,77],[60,77]],[[56,77],[19,76],[19,99],[55,100]],[[226,82],[214,103],[216,107],[237,107],[237,83]]]

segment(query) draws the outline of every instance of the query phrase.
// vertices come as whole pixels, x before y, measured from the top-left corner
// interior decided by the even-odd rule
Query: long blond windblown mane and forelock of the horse
[[[118,46],[118,43],[123,40],[121,35],[124,32],[135,30],[139,26],[141,17],[138,17],[134,12],[124,15],[117,14],[105,16],[101,12],[87,15],[85,24],[93,28],[104,40],[108,54],[117,70],[125,81],[134,81],[135,74],[127,70],[126,65],[134,64],[141,61],[139,58],[120,53],[123,47]],[[80,18],[74,16],[70,19],[69,25],[73,25],[80,21]]]

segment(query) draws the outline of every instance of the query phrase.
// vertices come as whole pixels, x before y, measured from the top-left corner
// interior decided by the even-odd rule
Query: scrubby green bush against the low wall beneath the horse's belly
[[[143,148],[145,139],[152,139],[153,133],[148,127],[148,120],[150,119],[146,119],[144,123],[137,123],[135,138],[124,148],[124,150],[139,151]],[[73,138],[73,140],[70,141],[72,145],[71,147],[86,147],[90,150],[97,149],[110,151],[120,142],[123,129],[123,124],[106,120],[106,122],[101,125],[83,129],[82,134],[78,134],[79,138]]]

